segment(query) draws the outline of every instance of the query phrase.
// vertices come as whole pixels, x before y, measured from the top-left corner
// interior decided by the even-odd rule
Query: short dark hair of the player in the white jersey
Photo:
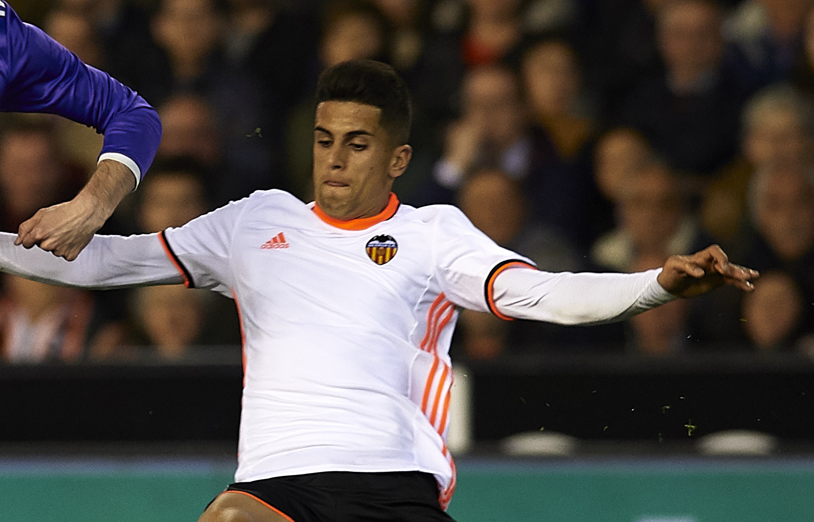
[[[407,143],[413,104],[405,81],[391,66],[372,59],[353,59],[327,69],[317,82],[317,105],[356,102],[382,110],[382,126],[399,144]]]

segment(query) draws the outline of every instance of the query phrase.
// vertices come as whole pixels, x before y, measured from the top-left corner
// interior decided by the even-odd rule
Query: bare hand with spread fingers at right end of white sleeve
[[[758,277],[757,270],[730,263],[724,251],[715,244],[690,256],[667,259],[659,274],[659,284],[674,296],[693,297],[724,284],[751,292],[755,290],[752,281]]]

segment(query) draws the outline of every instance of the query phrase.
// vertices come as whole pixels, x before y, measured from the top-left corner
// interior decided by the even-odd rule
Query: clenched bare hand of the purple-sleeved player
[[[73,200],[37,210],[20,225],[14,243],[25,248],[39,245],[55,256],[73,261],[104,222],[105,217],[99,215],[93,201],[77,195]]]

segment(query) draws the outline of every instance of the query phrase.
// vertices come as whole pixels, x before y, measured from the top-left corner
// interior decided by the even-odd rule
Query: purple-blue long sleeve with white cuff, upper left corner
[[[94,127],[104,134],[101,155],[132,160],[143,177],[161,139],[155,109],[25,24],[7,3],[0,2],[0,13],[0,111],[48,112]]]

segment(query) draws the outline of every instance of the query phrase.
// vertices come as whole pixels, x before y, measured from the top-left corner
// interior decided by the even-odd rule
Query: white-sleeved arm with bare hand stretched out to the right
[[[659,270],[637,274],[552,274],[522,268],[494,280],[497,314],[567,325],[624,321],[676,297],[692,297],[730,284],[746,292],[758,273],[729,263],[711,246],[692,256],[674,256]]]

